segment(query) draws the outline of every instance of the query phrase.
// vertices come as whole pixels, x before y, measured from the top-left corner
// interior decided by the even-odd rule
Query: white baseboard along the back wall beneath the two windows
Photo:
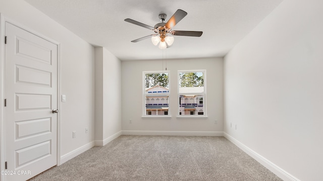
[[[152,136],[223,136],[216,131],[122,131],[122,135],[152,135]]]

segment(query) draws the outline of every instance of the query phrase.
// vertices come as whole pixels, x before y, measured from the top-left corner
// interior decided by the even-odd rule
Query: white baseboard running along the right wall
[[[236,140],[226,132],[223,133],[223,136],[227,138],[229,141],[231,141],[233,144],[238,146],[240,149],[242,149],[244,152],[246,152],[249,156],[257,160],[260,164],[265,166],[267,169],[271,170],[277,176],[282,178],[283,180],[300,181],[295,176],[291,175],[290,173],[288,173],[281,167],[277,166],[275,163],[271,162],[270,160],[266,159],[265,157],[261,156],[257,152],[253,151],[246,145],[242,144],[240,141]]]

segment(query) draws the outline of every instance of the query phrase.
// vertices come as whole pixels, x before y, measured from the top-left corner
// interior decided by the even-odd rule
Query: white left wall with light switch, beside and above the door
[[[61,155],[94,141],[94,48],[23,0],[0,1],[0,13],[61,44]]]

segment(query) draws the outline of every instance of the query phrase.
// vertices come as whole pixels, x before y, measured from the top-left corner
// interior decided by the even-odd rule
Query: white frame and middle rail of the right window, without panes
[[[196,93],[196,92],[189,92],[189,93],[180,93],[180,73],[189,73],[189,72],[203,72],[203,92],[202,93]],[[202,96],[202,105],[203,105],[203,115],[199,114],[199,111],[197,111],[196,114],[190,115],[191,111],[189,111],[190,114],[180,114],[181,112],[181,105],[180,105],[180,98],[181,96],[185,95],[192,95],[192,96]],[[196,98],[195,98],[196,99]],[[200,102],[200,97],[198,97],[198,102]],[[202,70],[178,70],[177,71],[177,118],[207,118],[206,115],[206,69]]]

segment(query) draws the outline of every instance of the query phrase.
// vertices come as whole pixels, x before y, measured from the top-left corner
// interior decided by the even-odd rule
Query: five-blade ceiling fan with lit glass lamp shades
[[[177,31],[172,30],[172,28],[181,21],[187,13],[183,10],[177,10],[174,15],[168,20],[167,23],[164,23],[165,19],[167,18],[166,14],[160,14],[158,16],[161,23],[157,23],[154,27],[149,25],[145,25],[143,23],[137,22],[132,19],[125,19],[126,22],[147,28],[155,32],[155,34],[144,36],[142,38],[138,38],[136,40],[132,40],[131,42],[138,42],[141,40],[145,40],[151,37],[151,41],[154,45],[157,45],[159,42],[159,48],[165,49],[170,47],[174,42],[173,36],[193,36],[193,37],[200,37],[203,32],[201,31]]]

